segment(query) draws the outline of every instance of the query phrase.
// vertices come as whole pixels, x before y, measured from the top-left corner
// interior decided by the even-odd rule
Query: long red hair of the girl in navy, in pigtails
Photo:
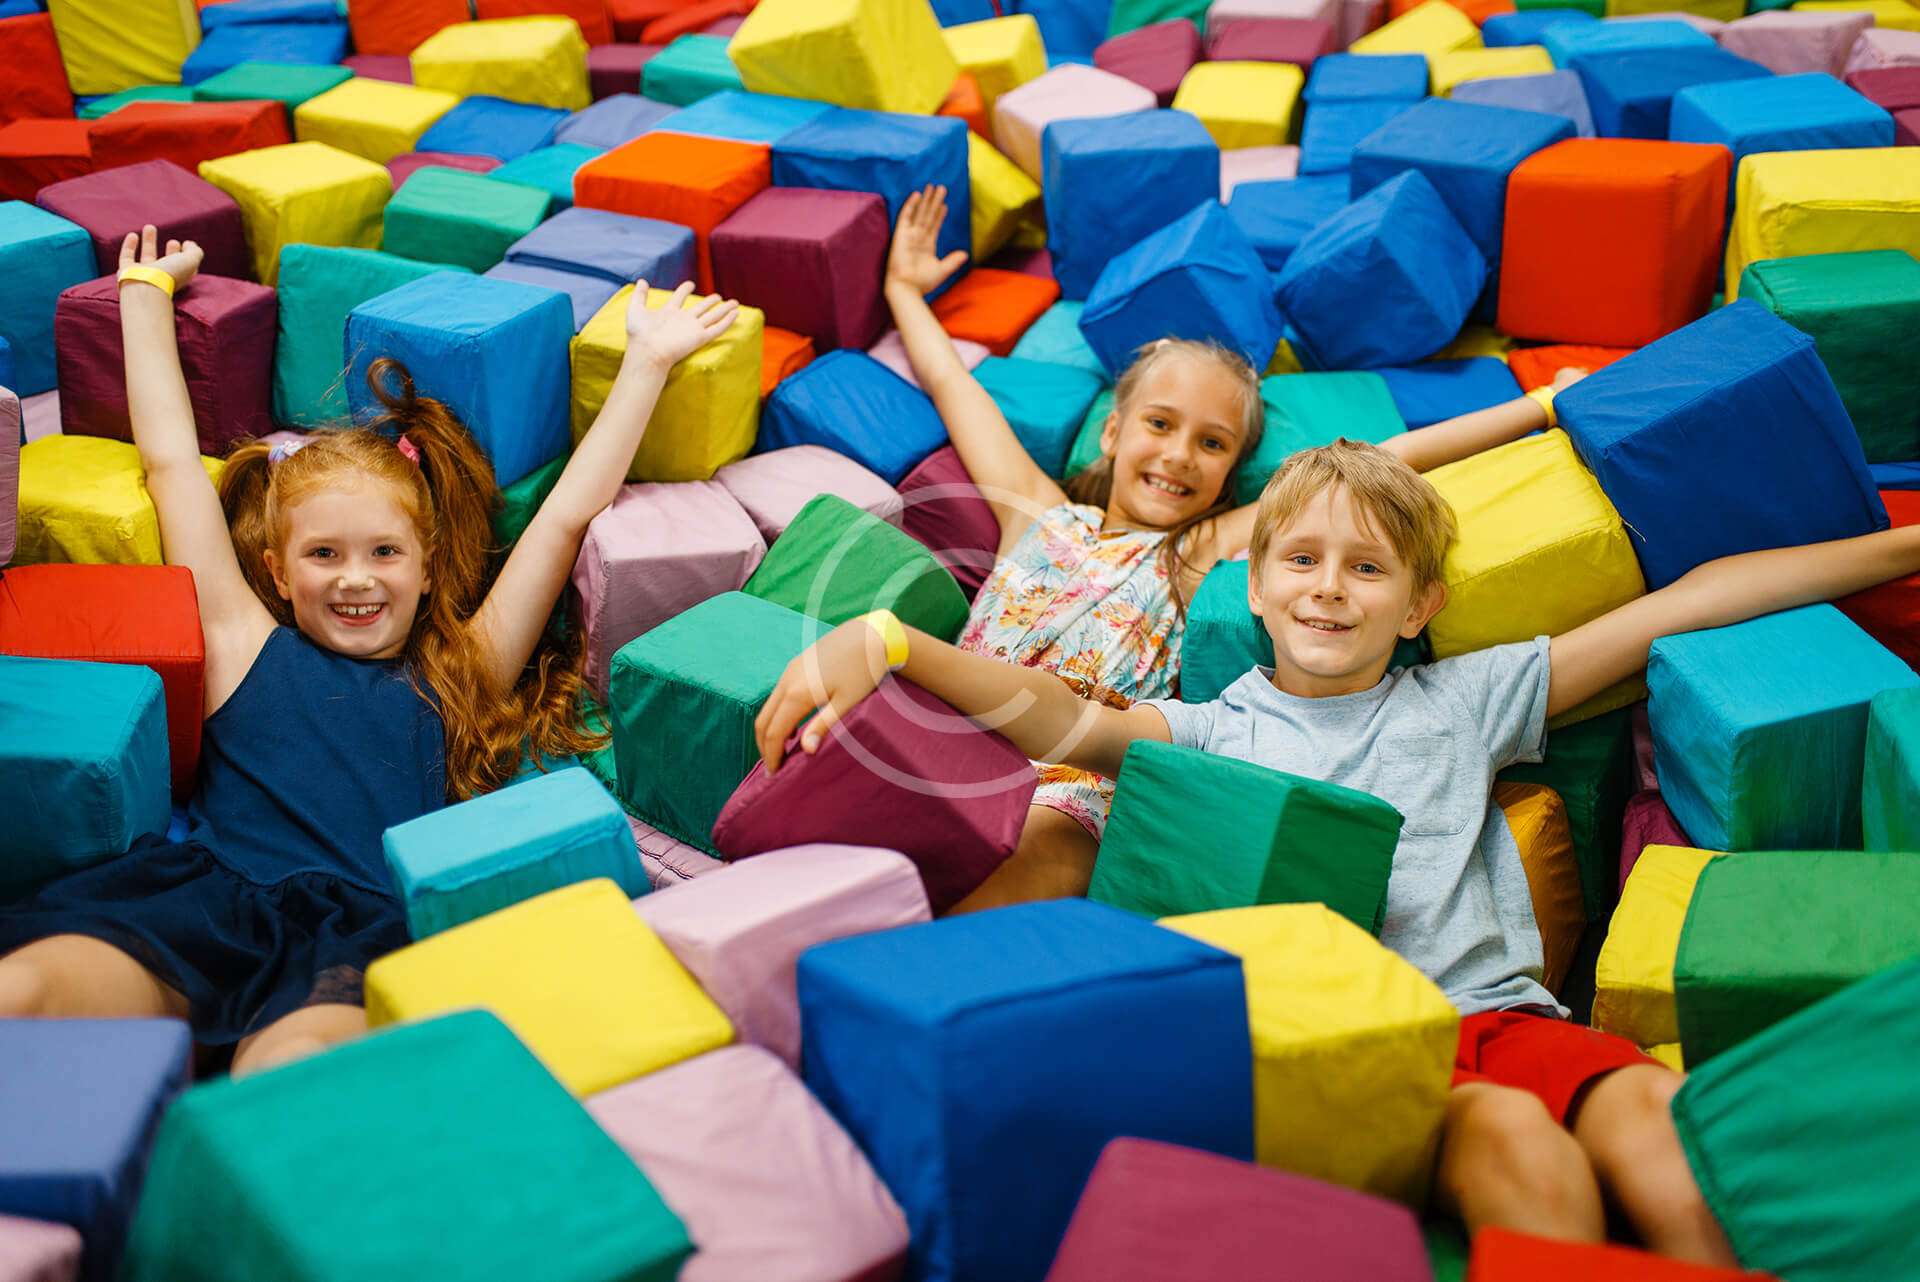
[[[388,378],[399,392],[388,388]],[[524,750],[543,756],[591,752],[605,745],[580,720],[580,635],[551,629],[511,691],[488,679],[486,653],[467,628],[493,578],[493,512],[499,487],[493,466],[459,418],[415,392],[413,376],[390,357],[367,370],[384,413],[359,428],[315,432],[278,463],[267,441],[246,441],[227,459],[221,507],[240,570],[253,595],[280,624],[294,626],[294,606],[280,599],[267,568],[267,549],[286,541],[286,514],[307,495],[342,476],[372,476],[392,487],[426,545],[432,589],[403,653],[407,677],[436,702],[447,731],[447,795],[467,800],[515,775]],[[405,439],[419,463],[399,449]]]

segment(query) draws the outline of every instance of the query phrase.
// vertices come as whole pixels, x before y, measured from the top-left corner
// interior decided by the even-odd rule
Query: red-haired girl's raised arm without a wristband
[[[488,668],[497,689],[513,687],[540,645],[588,522],[620,493],[666,376],[733,324],[739,303],[708,296],[684,309],[691,292],[691,282],[682,284],[664,307],[649,307],[647,282],[634,286],[626,309],[626,357],[612,392],[474,614],[472,628],[492,651]]]

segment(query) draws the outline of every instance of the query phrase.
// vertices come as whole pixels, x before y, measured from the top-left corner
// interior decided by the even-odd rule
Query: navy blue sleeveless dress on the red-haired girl
[[[275,628],[205,720],[186,839],[142,837],[0,910],[0,954],[102,938],[179,988],[215,1046],[359,1002],[361,971],[409,942],[380,837],[445,787],[445,727],[399,660]]]

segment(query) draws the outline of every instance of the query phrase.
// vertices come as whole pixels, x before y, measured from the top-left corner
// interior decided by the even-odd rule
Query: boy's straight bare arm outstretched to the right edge
[[[1709,560],[1553,637],[1548,716],[1645,668],[1647,649],[1659,637],[1832,601],[1914,572],[1920,572],[1920,526]]]

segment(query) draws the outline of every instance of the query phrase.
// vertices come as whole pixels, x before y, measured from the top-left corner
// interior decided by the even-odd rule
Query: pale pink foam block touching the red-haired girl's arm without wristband
[[[760,532],[724,486],[622,486],[588,526],[574,558],[588,683],[605,699],[614,651],[708,597],[743,587],[760,557]]]

